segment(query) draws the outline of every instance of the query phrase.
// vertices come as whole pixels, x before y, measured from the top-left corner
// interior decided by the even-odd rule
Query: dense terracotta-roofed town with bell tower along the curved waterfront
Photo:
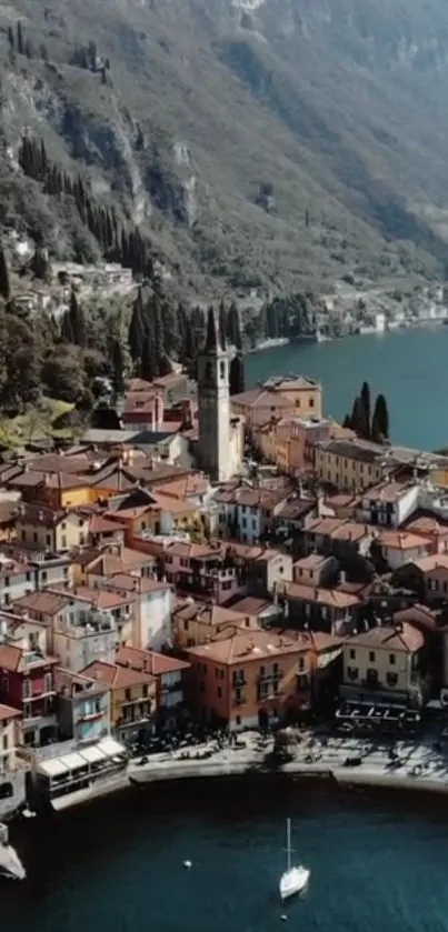
[[[273,758],[447,784],[448,458],[305,375],[230,395],[231,358],[210,309],[197,384],[3,455],[2,818]]]

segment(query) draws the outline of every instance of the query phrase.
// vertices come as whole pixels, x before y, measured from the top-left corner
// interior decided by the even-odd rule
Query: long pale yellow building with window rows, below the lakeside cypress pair
[[[360,492],[397,467],[379,443],[326,440],[316,444],[316,473],[321,482],[347,492]]]

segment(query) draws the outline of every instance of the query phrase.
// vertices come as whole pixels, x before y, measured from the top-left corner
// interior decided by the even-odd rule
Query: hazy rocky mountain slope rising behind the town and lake
[[[0,28],[3,223],[98,252],[26,132],[185,291],[445,274],[442,0],[14,0]]]

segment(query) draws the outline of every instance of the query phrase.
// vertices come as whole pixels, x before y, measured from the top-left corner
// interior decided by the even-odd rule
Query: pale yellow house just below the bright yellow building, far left
[[[17,519],[17,541],[57,553],[84,547],[89,542],[89,515],[81,510],[23,503]]]

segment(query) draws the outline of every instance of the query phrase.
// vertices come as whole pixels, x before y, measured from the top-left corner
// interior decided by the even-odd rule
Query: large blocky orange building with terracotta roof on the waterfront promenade
[[[210,723],[265,726],[310,708],[317,651],[307,632],[225,630],[186,655],[191,704]]]

